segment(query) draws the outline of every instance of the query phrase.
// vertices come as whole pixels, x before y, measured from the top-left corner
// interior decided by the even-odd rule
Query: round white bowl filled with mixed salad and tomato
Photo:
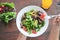
[[[16,25],[19,31],[28,37],[42,35],[49,24],[47,13],[38,6],[27,6],[18,13]]]

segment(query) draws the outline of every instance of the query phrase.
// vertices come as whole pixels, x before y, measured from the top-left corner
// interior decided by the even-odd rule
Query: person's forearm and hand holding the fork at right
[[[50,35],[48,37],[48,40],[59,40],[59,25],[60,24],[60,18],[57,19],[57,17],[53,20],[53,26],[50,32]]]

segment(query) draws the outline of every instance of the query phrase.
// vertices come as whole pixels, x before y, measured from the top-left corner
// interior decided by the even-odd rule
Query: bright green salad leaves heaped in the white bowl
[[[38,32],[40,30],[41,27],[44,26],[45,22],[43,21],[41,24],[38,23],[38,20],[34,18],[32,18],[33,15],[31,15],[34,12],[34,10],[30,10],[28,12],[25,13],[25,19],[22,20],[22,24],[27,28],[27,32],[29,34],[32,33],[32,30]],[[35,14],[37,15],[37,14]],[[35,16],[34,15],[34,16]]]

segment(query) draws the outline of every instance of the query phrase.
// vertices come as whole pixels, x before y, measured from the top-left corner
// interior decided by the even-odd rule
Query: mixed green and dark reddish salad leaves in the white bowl
[[[40,28],[42,28],[45,25],[45,21],[40,19],[40,15],[38,15],[39,11],[34,11],[33,9],[30,11],[27,11],[22,17],[22,25],[27,29],[27,32],[29,34],[32,33],[32,30],[35,32],[38,32]],[[33,15],[32,15],[33,14]]]

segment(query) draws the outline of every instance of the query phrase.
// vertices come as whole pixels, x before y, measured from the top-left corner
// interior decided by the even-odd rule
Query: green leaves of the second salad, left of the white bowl
[[[9,11],[9,9],[6,9],[5,7],[8,7],[10,9],[13,9],[14,10],[14,3],[8,3],[8,2],[5,2],[5,3],[0,3],[0,6],[4,5],[4,8],[2,10],[2,12],[0,13],[0,21],[3,21],[5,23],[8,23],[10,20],[14,19],[16,17],[16,12],[11,12]],[[6,11],[6,10],[8,11]],[[6,11],[6,12],[4,12]]]

